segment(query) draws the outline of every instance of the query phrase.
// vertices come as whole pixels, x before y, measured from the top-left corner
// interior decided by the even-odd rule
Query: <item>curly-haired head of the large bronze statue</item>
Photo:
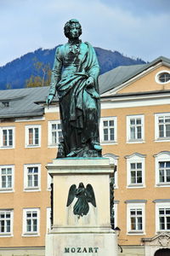
[[[71,38],[71,30],[73,28],[77,29],[77,38],[82,35],[82,26],[80,25],[79,21],[76,19],[71,19],[65,23],[64,32],[66,38]]]

